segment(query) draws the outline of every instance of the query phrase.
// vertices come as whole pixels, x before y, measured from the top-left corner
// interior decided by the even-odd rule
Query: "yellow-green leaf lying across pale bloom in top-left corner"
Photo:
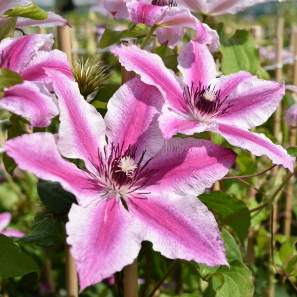
[[[0,17],[27,17],[33,20],[45,20],[48,18],[49,13],[39,8],[35,2],[26,6],[15,6],[13,9],[6,10]]]

